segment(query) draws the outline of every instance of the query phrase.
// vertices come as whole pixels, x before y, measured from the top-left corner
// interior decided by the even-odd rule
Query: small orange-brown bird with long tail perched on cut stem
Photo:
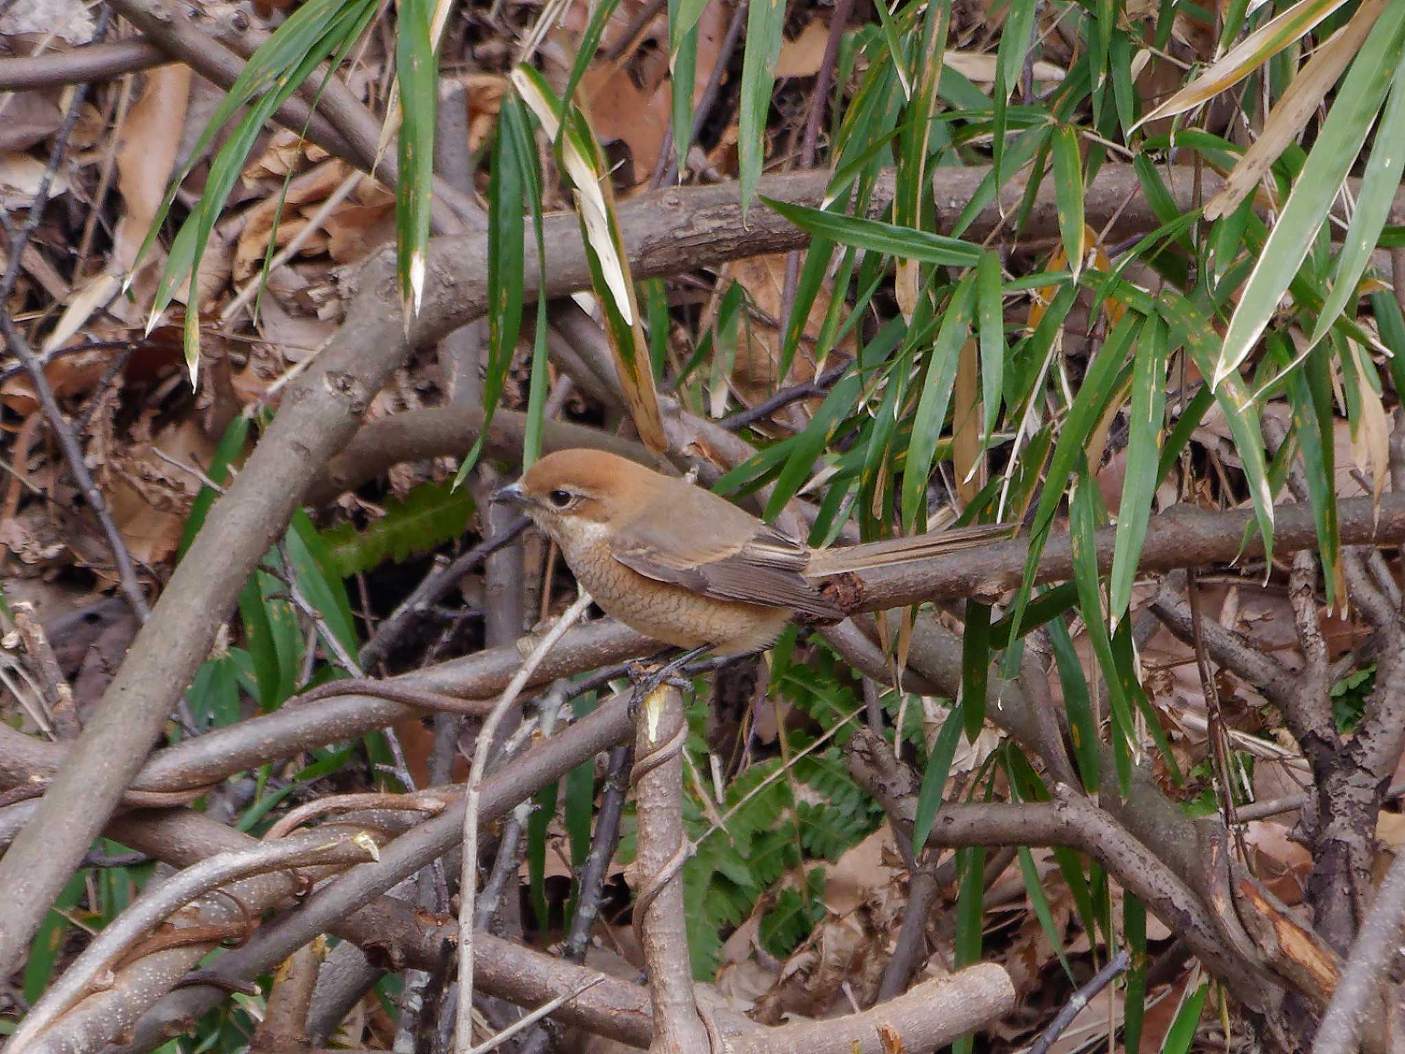
[[[711,490],[599,450],[548,454],[493,497],[521,506],[552,537],[607,614],[656,641],[717,655],[763,651],[795,617],[842,620],[819,589],[825,578],[1010,530],[812,549]]]

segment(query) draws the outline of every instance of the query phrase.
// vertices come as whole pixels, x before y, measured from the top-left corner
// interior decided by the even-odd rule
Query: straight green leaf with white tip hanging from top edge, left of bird
[[[434,0],[400,0],[395,77],[400,86],[399,178],[395,184],[396,270],[405,327],[420,313],[434,188],[438,53],[430,39]]]

